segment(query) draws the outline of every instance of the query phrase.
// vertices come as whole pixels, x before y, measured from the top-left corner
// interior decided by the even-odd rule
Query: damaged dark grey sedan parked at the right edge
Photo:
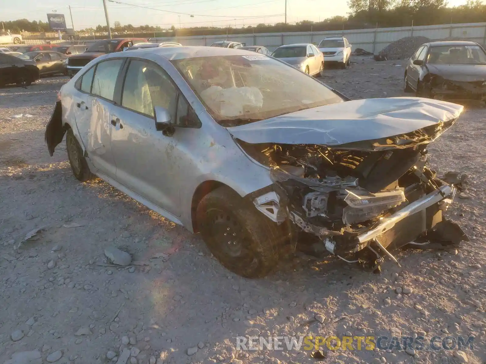
[[[486,51],[474,42],[425,43],[407,63],[403,88],[432,99],[486,102]]]

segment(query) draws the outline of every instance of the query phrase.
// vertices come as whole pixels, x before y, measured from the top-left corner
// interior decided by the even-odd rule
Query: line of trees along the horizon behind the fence
[[[302,20],[295,24],[258,24],[256,26],[234,27],[191,27],[176,29],[160,26],[121,25],[115,21],[111,27],[116,33],[154,33],[153,36],[217,35],[243,33],[319,32],[344,29],[387,28],[449,23],[474,23],[486,20],[486,4],[481,0],[468,0],[465,5],[448,7],[446,0],[348,0],[350,12],[347,17],[336,16],[320,22]],[[4,21],[4,28],[12,32],[47,32],[48,23],[41,20],[19,19]],[[83,30],[88,33],[107,32],[108,28],[98,25]],[[167,32],[169,31],[169,33]]]

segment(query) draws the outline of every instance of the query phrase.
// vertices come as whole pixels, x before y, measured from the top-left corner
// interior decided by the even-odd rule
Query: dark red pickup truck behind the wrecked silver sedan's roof
[[[81,54],[74,54],[66,60],[66,68],[69,76],[72,78],[78,71],[86,66],[96,57],[106,53],[120,52],[125,47],[132,47],[135,44],[146,43],[145,38],[114,38],[104,39],[93,43],[88,49]]]

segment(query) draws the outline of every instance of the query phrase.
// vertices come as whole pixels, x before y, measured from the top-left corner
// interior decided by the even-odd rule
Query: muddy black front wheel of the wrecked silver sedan
[[[216,259],[245,278],[262,278],[277,268],[279,248],[288,239],[278,226],[227,186],[206,195],[197,206],[203,240]]]

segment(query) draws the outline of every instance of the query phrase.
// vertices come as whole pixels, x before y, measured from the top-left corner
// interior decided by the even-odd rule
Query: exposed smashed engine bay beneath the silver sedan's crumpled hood
[[[384,256],[396,261],[388,250],[419,237],[423,242],[413,244],[427,245],[436,228],[448,235],[439,240],[467,240],[456,224],[442,219],[459,183],[436,177],[427,144],[360,151],[238,143],[270,168],[273,191],[254,200],[257,209],[277,223],[290,220],[304,244],[376,270]]]

